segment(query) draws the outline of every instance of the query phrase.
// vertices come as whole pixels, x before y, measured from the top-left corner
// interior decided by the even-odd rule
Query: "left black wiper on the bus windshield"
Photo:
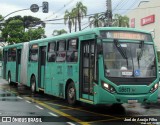
[[[128,67],[128,57],[127,57],[125,50],[123,49],[123,47],[121,46],[121,44],[118,42],[117,39],[114,39],[113,42],[114,42],[115,46],[117,47],[118,51],[120,52],[120,54],[122,55],[122,57],[124,59],[126,59],[127,67]]]

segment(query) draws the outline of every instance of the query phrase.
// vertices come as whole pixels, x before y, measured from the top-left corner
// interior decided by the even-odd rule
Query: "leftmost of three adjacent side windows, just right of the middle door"
[[[55,62],[56,61],[56,43],[49,43],[48,44],[48,62]]]

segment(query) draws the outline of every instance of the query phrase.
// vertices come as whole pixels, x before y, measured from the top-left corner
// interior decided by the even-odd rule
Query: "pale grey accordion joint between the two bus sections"
[[[24,43],[21,53],[21,69],[20,69],[20,83],[27,84],[27,66],[28,66],[28,42]]]

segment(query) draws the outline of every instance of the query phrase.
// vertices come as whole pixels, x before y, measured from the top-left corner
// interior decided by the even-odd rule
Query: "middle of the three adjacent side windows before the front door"
[[[57,42],[57,62],[64,62],[66,60],[66,42],[65,41],[59,41]]]

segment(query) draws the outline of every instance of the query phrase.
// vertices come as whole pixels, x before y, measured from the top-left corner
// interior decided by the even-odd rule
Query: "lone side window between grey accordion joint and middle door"
[[[38,45],[32,45],[29,52],[29,61],[38,61]]]

